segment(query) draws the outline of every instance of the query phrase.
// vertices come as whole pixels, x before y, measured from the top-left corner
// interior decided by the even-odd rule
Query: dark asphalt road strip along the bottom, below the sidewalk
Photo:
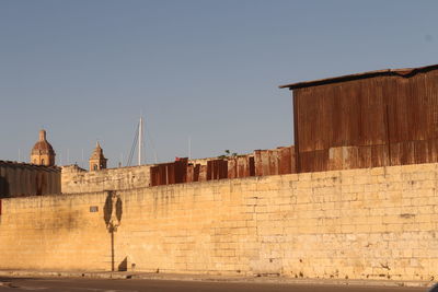
[[[0,291],[57,292],[425,292],[424,288],[384,288],[357,285],[303,285],[272,283],[230,283],[199,281],[166,281],[139,279],[62,279],[62,278],[0,278]]]

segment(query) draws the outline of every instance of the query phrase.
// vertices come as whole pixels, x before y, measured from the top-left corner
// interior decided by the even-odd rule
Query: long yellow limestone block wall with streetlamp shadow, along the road
[[[436,279],[437,175],[419,164],[3,199],[0,268]]]

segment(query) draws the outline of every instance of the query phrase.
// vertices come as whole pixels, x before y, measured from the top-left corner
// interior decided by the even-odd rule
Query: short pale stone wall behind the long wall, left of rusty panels
[[[62,194],[104,191],[108,189],[132,189],[148,187],[150,165],[84,171],[78,166],[64,166],[61,174]]]

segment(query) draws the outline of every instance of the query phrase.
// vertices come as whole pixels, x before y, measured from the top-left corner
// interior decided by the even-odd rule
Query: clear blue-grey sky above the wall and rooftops
[[[284,83],[438,63],[438,1],[0,0],[0,160],[44,127],[58,164],[288,145]]]

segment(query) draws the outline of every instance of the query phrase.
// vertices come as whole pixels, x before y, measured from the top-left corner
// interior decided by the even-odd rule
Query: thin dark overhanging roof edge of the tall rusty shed
[[[372,78],[372,77],[379,77],[379,75],[397,75],[397,77],[408,78],[408,77],[415,75],[418,72],[431,71],[431,70],[436,70],[436,69],[438,69],[438,65],[430,65],[430,66],[418,67],[418,68],[384,69],[384,70],[368,71],[368,72],[362,72],[362,73],[355,73],[355,74],[349,74],[349,75],[333,77],[333,78],[326,78],[326,79],[290,83],[290,84],[279,85],[278,87],[293,90],[293,89],[311,87],[311,86],[318,86],[318,85],[323,85],[323,84],[337,83],[337,82],[343,82],[343,81],[351,81],[351,80]]]

